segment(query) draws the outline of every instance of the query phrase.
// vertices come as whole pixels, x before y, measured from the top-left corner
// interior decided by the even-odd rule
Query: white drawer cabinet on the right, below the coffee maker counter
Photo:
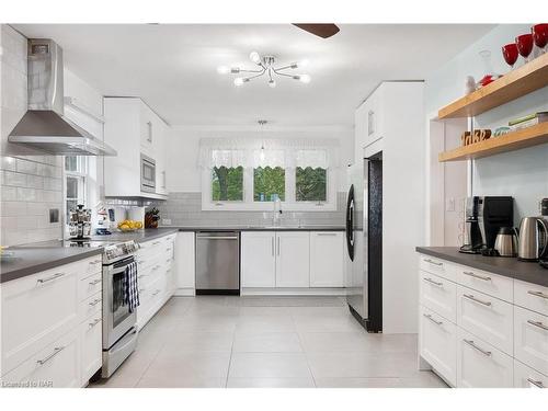
[[[427,255],[419,282],[420,359],[447,383],[548,386],[547,287]]]

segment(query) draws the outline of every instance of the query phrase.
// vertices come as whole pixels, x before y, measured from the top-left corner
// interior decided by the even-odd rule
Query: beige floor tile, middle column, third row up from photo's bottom
[[[295,332],[236,332],[235,353],[301,353]]]

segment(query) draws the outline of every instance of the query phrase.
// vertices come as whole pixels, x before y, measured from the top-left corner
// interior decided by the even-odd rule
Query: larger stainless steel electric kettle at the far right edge
[[[548,222],[540,217],[524,217],[520,224],[517,259],[538,261],[547,254]]]

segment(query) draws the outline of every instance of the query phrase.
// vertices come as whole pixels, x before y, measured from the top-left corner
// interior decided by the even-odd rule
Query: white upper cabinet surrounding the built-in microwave
[[[117,151],[104,158],[105,196],[163,198],[167,124],[137,98],[105,98],[104,117],[104,140]],[[156,163],[155,193],[141,191],[141,155]]]

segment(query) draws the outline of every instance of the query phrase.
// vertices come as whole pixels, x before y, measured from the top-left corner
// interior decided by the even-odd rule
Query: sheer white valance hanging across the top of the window
[[[339,167],[339,147],[340,142],[334,138],[202,138],[198,165],[205,169],[240,165],[333,169]]]

